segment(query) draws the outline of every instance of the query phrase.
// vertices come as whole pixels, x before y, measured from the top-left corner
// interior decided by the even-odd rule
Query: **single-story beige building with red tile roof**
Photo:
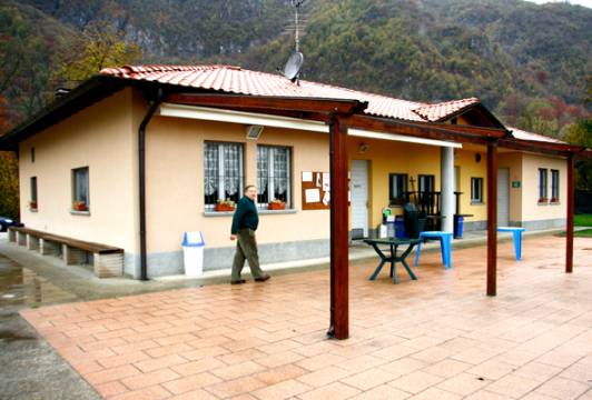
[[[491,201],[501,226],[565,224],[568,144],[504,127],[476,98],[428,104],[228,66],[110,68],[0,149],[18,151],[27,228],[122,249],[130,277],[181,273],[188,231],[204,232],[206,270],[229,268],[230,201],[246,184],[258,187],[262,261],[318,258],[329,254],[332,166],[317,114],[342,107],[375,127],[348,127],[351,238],[377,236],[384,209],[401,214],[407,200],[447,231],[455,214],[486,229]],[[487,139],[506,144],[493,200]]]

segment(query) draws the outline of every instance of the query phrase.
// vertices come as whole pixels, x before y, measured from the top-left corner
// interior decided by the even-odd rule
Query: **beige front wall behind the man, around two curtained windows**
[[[302,211],[302,171],[328,171],[328,136],[265,128],[257,141],[247,141],[245,126],[156,117],[147,139],[147,211],[149,252],[181,249],[185,231],[203,231],[208,248],[231,247],[231,216],[205,216],[204,143],[245,144],[245,183],[256,183],[257,144],[293,148],[295,213],[259,216],[259,243],[326,239],[327,210]]]

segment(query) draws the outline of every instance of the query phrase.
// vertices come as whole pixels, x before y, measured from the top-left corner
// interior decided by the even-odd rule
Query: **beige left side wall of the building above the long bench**
[[[120,91],[20,143],[20,211],[27,227],[136,252],[131,97],[131,90]],[[88,216],[70,212],[71,170],[80,167],[89,167]],[[31,177],[38,181],[38,212],[29,209]]]

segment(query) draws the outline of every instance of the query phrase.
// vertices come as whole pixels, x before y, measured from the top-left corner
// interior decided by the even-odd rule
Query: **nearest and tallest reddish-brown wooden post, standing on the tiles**
[[[337,116],[329,126],[330,140],[330,328],[329,337],[349,337],[347,127]]]

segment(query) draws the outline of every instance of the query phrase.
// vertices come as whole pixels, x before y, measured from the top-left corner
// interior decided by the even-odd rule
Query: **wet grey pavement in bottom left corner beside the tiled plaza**
[[[0,254],[0,399],[100,399],[19,310],[78,298]]]

